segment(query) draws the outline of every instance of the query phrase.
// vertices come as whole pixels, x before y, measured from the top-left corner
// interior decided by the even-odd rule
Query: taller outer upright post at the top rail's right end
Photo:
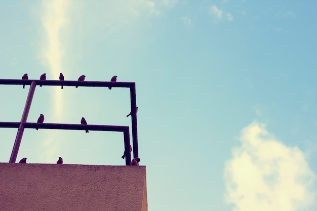
[[[139,153],[138,153],[138,127],[137,127],[135,83],[134,83],[134,86],[130,88],[130,96],[131,96],[131,121],[132,121],[133,157],[139,157]]]

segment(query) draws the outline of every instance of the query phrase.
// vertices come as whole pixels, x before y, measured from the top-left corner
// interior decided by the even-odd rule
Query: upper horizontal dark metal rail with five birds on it
[[[135,87],[135,82],[110,82],[110,81],[77,81],[77,80],[22,80],[22,79],[0,79],[0,85],[36,85],[42,86],[68,86],[68,87]]]

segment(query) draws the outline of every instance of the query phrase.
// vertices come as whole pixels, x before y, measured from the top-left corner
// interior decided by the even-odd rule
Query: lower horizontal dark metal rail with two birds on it
[[[20,122],[0,121],[0,128],[19,128]],[[59,130],[89,130],[89,131],[129,131],[129,126],[97,125],[97,124],[56,124],[56,123],[23,123],[24,128],[59,129]]]

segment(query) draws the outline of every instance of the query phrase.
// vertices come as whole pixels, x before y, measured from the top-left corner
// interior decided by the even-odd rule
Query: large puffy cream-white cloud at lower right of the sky
[[[243,129],[240,141],[224,170],[225,200],[234,211],[312,210],[315,174],[300,149],[276,140],[257,122]]]

